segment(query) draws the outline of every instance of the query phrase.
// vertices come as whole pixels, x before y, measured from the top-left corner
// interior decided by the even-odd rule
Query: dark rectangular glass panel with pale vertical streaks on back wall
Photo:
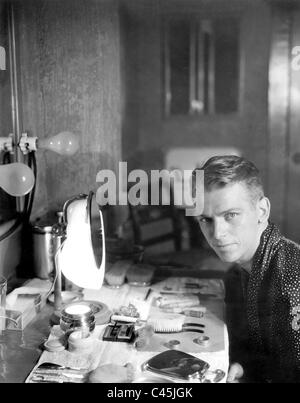
[[[164,86],[167,116],[237,112],[239,20],[167,18]]]

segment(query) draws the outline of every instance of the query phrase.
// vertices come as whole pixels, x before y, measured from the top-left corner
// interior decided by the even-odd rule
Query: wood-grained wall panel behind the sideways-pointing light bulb
[[[23,131],[72,131],[80,151],[38,151],[32,217],[96,191],[100,169],[121,156],[120,24],[117,0],[29,0],[15,4]]]

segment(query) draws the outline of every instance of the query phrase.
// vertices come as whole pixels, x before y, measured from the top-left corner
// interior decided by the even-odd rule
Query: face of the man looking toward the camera
[[[205,190],[201,230],[221,260],[249,263],[259,245],[258,202],[251,201],[243,183]]]

